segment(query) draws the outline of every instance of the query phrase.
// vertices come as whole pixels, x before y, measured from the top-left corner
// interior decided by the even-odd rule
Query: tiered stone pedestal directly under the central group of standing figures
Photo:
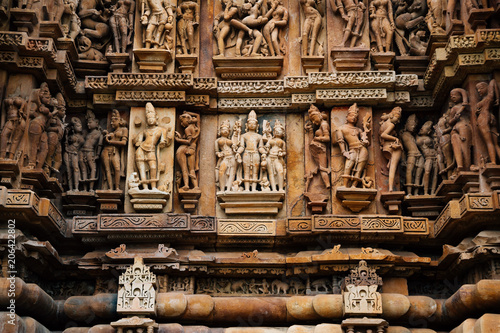
[[[218,192],[217,199],[226,214],[278,214],[285,192]]]

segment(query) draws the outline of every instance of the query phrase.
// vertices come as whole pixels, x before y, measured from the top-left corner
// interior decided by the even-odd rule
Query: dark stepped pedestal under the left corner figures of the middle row
[[[64,190],[55,177],[49,177],[42,169],[21,169],[21,187],[36,191],[40,196],[55,198],[55,193]]]

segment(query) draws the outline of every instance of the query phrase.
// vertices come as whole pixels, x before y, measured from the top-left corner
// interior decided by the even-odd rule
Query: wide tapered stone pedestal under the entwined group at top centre
[[[215,72],[222,79],[276,79],[283,68],[283,57],[224,57],[212,58]]]

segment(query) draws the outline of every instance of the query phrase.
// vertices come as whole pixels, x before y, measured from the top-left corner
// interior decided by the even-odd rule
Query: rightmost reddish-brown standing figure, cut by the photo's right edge
[[[479,82],[476,89],[481,99],[476,104],[476,116],[479,135],[486,144],[488,150],[488,161],[497,164],[497,157],[500,157],[500,146],[498,145],[497,121],[493,115],[494,106],[500,101],[500,92],[495,80],[489,83]]]

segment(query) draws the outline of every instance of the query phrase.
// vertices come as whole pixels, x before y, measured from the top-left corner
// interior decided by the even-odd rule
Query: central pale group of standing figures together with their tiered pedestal
[[[285,197],[285,127],[279,119],[262,121],[250,111],[242,120],[221,121],[215,142],[217,197],[226,214],[276,214]]]

